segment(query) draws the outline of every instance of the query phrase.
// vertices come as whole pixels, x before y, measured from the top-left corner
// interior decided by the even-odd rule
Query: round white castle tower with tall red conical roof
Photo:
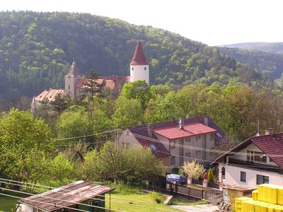
[[[149,63],[146,61],[144,50],[141,47],[141,42],[137,42],[137,47],[134,50],[134,57],[129,64],[130,81],[144,80],[149,84]]]

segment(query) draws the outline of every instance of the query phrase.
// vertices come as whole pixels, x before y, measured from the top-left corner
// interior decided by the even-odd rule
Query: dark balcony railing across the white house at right
[[[243,165],[243,167],[250,167],[250,168],[258,168],[260,170],[265,170],[269,172],[277,172],[280,175],[283,175],[283,169],[281,167],[277,167],[275,165],[269,165],[269,164],[263,164],[263,163],[257,163],[253,161],[248,160],[237,160],[233,158],[229,158],[228,164],[231,165]]]

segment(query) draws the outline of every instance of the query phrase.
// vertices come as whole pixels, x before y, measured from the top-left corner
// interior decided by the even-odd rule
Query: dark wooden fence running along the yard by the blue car
[[[175,196],[185,196],[192,199],[210,199],[218,194],[223,194],[221,191],[193,189],[183,184],[173,184],[171,182],[163,184],[160,184],[160,182],[149,182],[144,186],[144,189],[163,192]]]

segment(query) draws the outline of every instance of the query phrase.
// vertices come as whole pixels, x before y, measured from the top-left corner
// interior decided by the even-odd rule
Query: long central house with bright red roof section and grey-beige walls
[[[214,148],[225,138],[225,134],[209,117],[189,117],[131,126],[122,132],[115,143],[125,148],[149,147],[156,158],[171,169],[187,160],[198,160],[203,164],[213,162]]]

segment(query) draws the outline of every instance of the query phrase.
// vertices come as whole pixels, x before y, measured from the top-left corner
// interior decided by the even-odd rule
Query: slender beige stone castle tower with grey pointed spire
[[[76,97],[76,83],[79,81],[79,69],[76,66],[75,59],[67,75],[65,76],[65,92],[71,98]]]

